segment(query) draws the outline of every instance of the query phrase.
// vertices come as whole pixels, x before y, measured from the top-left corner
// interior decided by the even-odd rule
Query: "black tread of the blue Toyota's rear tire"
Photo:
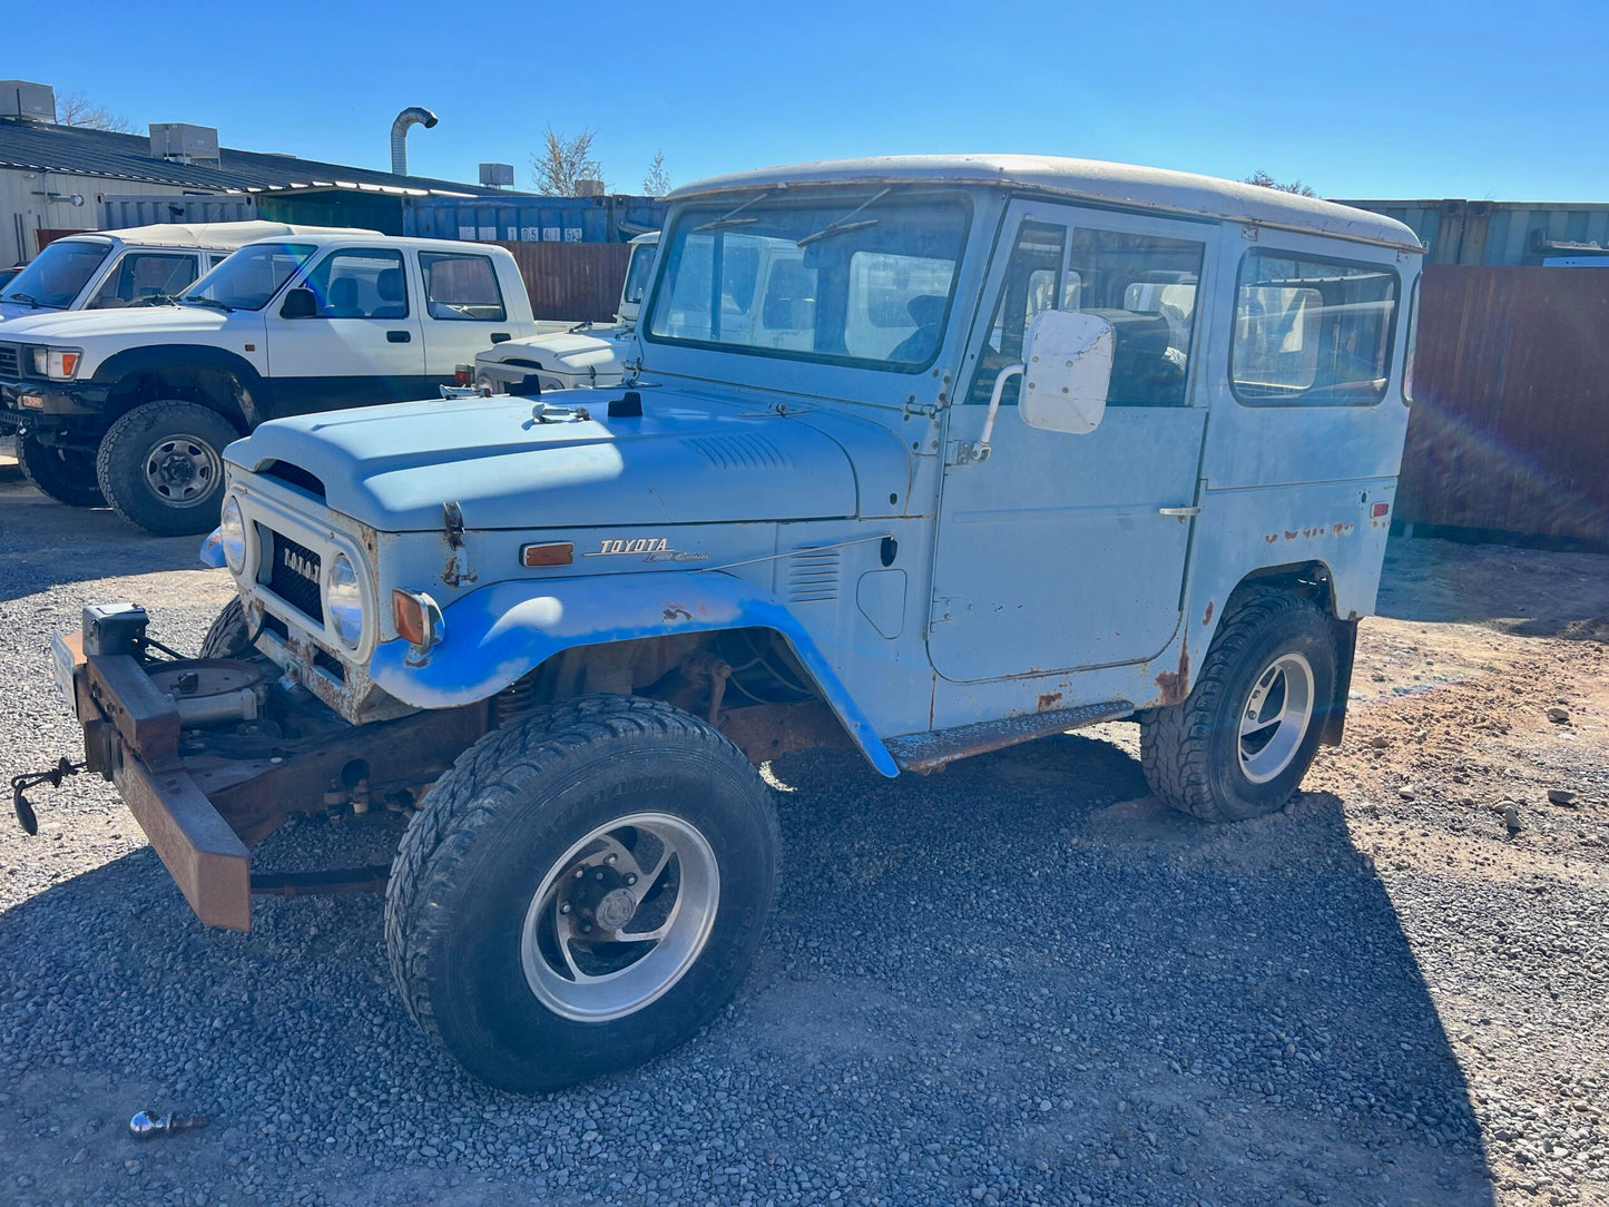
[[[1162,801],[1202,821],[1236,821],[1213,800],[1210,787],[1212,718],[1245,647],[1279,616],[1302,610],[1316,612],[1313,604],[1287,591],[1249,587],[1239,592],[1218,624],[1191,694],[1181,703],[1141,715],[1139,766]],[[1315,715],[1313,724],[1321,726],[1323,718]],[[1292,795],[1295,785],[1271,808],[1282,806]]]

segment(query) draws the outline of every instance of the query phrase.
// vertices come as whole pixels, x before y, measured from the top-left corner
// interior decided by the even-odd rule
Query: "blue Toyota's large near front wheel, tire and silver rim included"
[[[409,824],[391,974],[425,1035],[502,1090],[637,1065],[732,996],[779,848],[769,790],[711,726],[628,695],[545,708],[460,755]]]

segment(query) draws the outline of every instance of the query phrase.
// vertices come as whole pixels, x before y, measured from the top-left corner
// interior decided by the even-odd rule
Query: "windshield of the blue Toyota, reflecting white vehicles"
[[[650,340],[922,369],[938,356],[967,220],[953,195],[887,188],[689,206],[661,245]]]

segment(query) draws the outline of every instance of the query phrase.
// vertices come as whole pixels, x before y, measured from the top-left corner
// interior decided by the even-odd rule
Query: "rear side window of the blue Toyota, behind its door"
[[[1372,406],[1392,373],[1400,282],[1372,264],[1252,251],[1229,380],[1247,406]]]

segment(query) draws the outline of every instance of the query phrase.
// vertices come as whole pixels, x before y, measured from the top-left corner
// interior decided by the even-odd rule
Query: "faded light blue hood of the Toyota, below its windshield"
[[[613,391],[610,391],[613,393]],[[602,391],[544,394],[594,418],[537,423],[521,398],[399,402],[283,418],[228,446],[235,467],[290,462],[336,512],[380,531],[631,526],[856,515],[856,473],[817,415],[644,389],[640,417],[610,418]],[[866,425],[883,459],[898,438]]]

